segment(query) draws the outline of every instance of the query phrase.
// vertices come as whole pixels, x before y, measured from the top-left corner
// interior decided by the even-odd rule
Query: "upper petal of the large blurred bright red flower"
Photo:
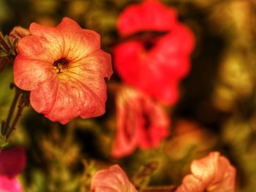
[[[132,4],[118,18],[117,28],[122,36],[139,31],[169,31],[176,23],[176,11],[159,1],[148,0]]]

